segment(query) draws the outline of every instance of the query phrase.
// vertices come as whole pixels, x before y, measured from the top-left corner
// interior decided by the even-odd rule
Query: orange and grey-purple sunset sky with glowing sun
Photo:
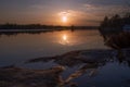
[[[0,0],[0,24],[99,25],[130,0]]]

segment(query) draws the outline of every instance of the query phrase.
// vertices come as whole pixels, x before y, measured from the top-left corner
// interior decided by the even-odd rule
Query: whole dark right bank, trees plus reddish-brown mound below
[[[106,46],[117,50],[130,48],[130,13],[105,16],[99,30]]]

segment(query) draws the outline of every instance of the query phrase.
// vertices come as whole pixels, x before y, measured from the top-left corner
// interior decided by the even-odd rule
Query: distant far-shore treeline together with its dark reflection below
[[[40,24],[28,24],[28,25],[18,25],[18,24],[1,24],[0,25],[0,35],[16,35],[22,33],[27,34],[40,34],[56,30],[76,30],[76,29],[98,29],[99,26],[53,26],[53,25],[40,25]]]

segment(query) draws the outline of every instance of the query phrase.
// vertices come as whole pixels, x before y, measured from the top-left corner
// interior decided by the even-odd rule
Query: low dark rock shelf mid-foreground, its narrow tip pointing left
[[[74,67],[77,71],[72,73],[62,85],[72,84],[72,80],[80,77],[83,74],[94,76],[98,74],[98,69],[106,65],[109,62],[119,62],[130,66],[130,50],[123,50],[123,58],[118,57],[115,50],[81,50],[72,51],[62,55],[37,58],[28,60],[26,63],[49,62],[52,61],[58,65]]]

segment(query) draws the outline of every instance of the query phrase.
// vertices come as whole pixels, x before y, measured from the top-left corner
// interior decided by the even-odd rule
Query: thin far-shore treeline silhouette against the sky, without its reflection
[[[80,28],[80,29],[95,29],[96,26],[53,26],[53,25],[41,25],[41,24],[28,24],[28,25],[18,25],[18,24],[1,24],[0,29],[67,29],[67,28]]]

